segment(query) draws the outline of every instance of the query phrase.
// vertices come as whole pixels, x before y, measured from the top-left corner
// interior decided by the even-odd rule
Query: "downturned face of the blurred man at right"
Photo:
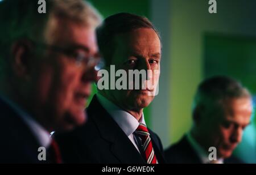
[[[219,116],[209,123],[208,146],[217,149],[217,157],[227,158],[242,140],[243,130],[250,123],[253,106],[250,98],[229,99]],[[214,119],[215,118],[215,119]]]

